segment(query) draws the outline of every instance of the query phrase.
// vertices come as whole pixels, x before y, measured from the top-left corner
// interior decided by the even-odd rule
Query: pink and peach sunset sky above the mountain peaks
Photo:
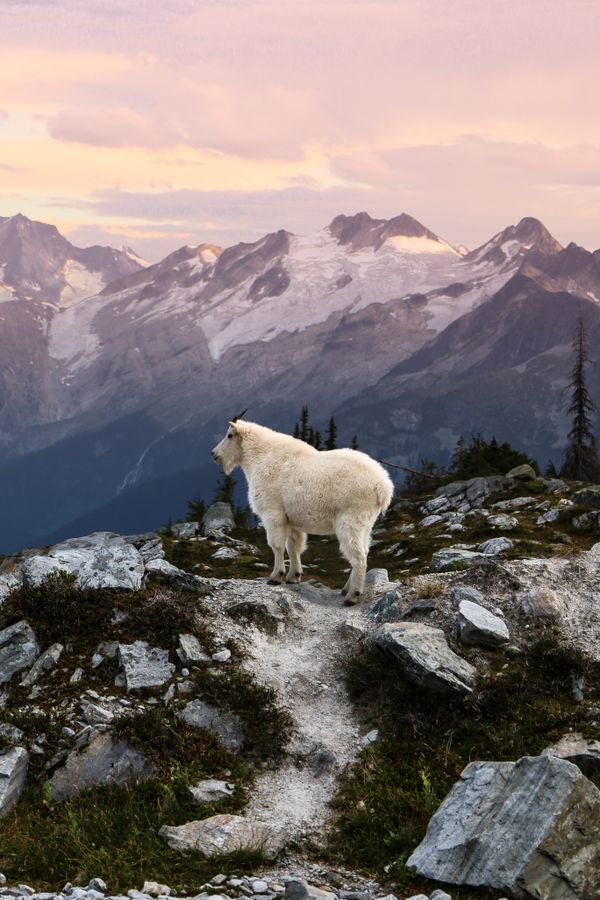
[[[156,260],[339,212],[600,247],[597,0],[0,0],[0,215]]]

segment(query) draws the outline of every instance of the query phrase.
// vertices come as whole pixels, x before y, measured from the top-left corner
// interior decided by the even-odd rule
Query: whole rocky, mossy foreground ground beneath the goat
[[[223,505],[4,559],[0,894],[600,896],[599,521],[527,467],[399,499],[354,607]]]

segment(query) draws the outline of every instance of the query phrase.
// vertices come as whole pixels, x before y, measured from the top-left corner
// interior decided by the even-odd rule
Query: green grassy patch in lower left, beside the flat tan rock
[[[66,881],[87,884],[101,874],[111,893],[140,888],[144,880],[194,894],[216,871],[251,872],[264,860],[240,853],[207,860],[171,850],[158,836],[162,825],[210,815],[193,804],[187,785],[160,778],[127,787],[94,788],[65,803],[43,789],[28,789],[18,810],[0,820],[2,870],[9,881],[59,890]]]

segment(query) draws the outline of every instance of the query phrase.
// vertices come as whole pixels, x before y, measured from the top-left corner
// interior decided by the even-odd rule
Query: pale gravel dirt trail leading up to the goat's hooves
[[[288,839],[301,838],[322,831],[339,775],[361,749],[360,725],[339,662],[348,651],[341,626],[359,621],[364,612],[342,606],[339,592],[310,585],[236,581],[216,596],[240,600],[247,592],[253,600],[283,597],[292,605],[278,634],[248,625],[240,629],[238,623],[233,628],[248,653],[246,667],[275,688],[296,731],[284,762],[259,776],[245,815],[283,829]]]

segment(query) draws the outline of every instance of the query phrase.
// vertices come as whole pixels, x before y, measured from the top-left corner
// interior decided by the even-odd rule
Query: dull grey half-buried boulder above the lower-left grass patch
[[[54,800],[68,800],[98,784],[126,784],[150,777],[152,767],[127,741],[113,743],[110,733],[95,735],[80,752],[72,750],[50,779]]]

